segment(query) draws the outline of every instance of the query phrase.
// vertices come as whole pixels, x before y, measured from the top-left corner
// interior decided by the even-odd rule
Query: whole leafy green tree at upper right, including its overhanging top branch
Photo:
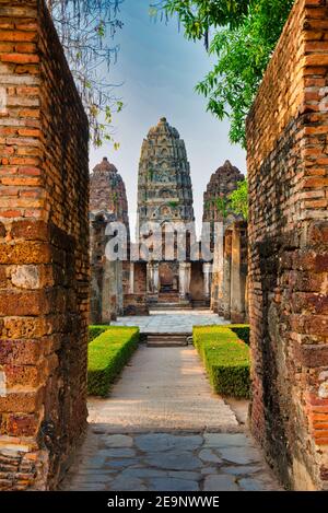
[[[216,62],[196,90],[208,98],[208,110],[219,119],[231,119],[230,139],[243,147],[246,116],[293,3],[294,0],[164,0],[156,4],[167,15],[178,15],[186,37],[206,38]]]

